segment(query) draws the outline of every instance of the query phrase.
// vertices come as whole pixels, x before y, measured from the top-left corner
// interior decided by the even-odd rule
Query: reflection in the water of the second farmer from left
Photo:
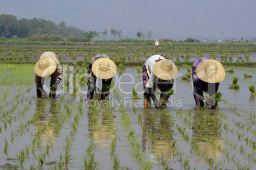
[[[92,103],[90,100],[89,112],[87,113],[89,118],[89,132],[92,135],[92,139],[95,144],[99,147],[110,147],[112,139],[115,137],[115,127],[113,122],[115,115],[112,114],[111,110],[108,109],[107,102],[103,101],[104,104],[99,110],[97,103]]]

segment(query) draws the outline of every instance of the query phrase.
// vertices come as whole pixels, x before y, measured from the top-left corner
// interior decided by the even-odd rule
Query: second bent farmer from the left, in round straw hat
[[[110,95],[110,84],[112,81],[112,77],[117,73],[117,66],[115,63],[110,60],[108,55],[106,54],[97,54],[90,59],[89,65],[89,78],[87,81],[88,92],[87,98],[94,98],[94,91],[99,91],[96,87],[97,77],[102,79],[103,87],[101,89],[101,93],[99,95],[98,100],[106,99],[108,95]]]

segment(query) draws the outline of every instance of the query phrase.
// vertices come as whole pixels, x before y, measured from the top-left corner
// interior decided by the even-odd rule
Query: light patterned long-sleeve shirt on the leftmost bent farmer
[[[45,57],[50,57],[53,58],[53,60],[56,62],[56,70],[58,72],[58,78],[57,78],[57,84],[59,84],[59,82],[61,81],[62,77],[63,77],[63,71],[62,71],[62,67],[60,65],[59,62],[59,58],[57,55],[55,55],[55,53],[51,52],[51,51],[46,51],[45,53],[43,53],[39,59],[41,58],[45,58]],[[36,84],[36,87],[41,86],[41,77],[39,77],[38,75],[35,76],[34,79],[34,84]]]

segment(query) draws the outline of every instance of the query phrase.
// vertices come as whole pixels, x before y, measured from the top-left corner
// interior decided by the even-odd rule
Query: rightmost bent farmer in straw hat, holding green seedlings
[[[218,92],[218,86],[225,78],[225,70],[220,62],[207,57],[198,58],[192,66],[192,80],[194,86],[194,99],[196,101],[195,110],[204,107],[203,91],[209,96]],[[215,102],[211,108],[217,108],[218,103]]]

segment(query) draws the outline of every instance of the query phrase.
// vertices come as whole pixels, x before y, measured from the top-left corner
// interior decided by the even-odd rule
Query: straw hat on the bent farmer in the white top
[[[176,65],[169,60],[160,60],[153,64],[153,74],[159,79],[169,81],[177,77],[178,69]]]

